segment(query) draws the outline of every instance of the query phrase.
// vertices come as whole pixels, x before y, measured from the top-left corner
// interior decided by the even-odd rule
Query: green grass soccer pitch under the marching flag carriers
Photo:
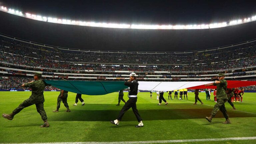
[[[0,113],[11,113],[31,92],[0,92]],[[0,143],[64,143],[64,142],[102,142],[121,143],[193,143],[193,144],[248,144],[256,143],[256,94],[245,93],[243,103],[234,103],[237,110],[232,110],[225,103],[231,124],[225,121],[219,111],[212,123],[209,116],[215,104],[205,100],[205,93],[199,93],[203,105],[194,103],[194,94],[188,93],[188,100],[168,100],[168,105],[157,105],[156,94],[152,99],[147,92],[138,93],[137,109],[143,119],[144,127],[138,124],[132,109],[128,110],[119,126],[109,121],[116,119],[124,103],[118,102],[118,92],[89,96],[82,95],[85,105],[75,103],[75,93],[68,93],[71,112],[65,112],[63,103],[59,112],[56,109],[59,92],[44,92],[49,128],[40,128],[43,124],[35,105],[23,109],[13,120],[0,118]],[[124,93],[127,101],[127,93]],[[174,94],[172,94],[174,99]],[[251,137],[251,138],[248,138]],[[225,139],[232,138],[232,139]],[[237,140],[234,140],[234,139]],[[197,141],[197,139],[199,139]],[[211,139],[211,140],[207,140]],[[184,141],[187,140],[187,141]],[[148,142],[145,142],[148,141]]]

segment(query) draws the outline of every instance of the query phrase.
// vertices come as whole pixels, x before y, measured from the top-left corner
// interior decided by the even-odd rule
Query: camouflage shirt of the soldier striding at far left
[[[44,89],[45,83],[43,80],[39,79],[31,83],[25,83],[25,87],[32,88],[32,94],[29,97],[31,103],[42,103],[44,102]]]

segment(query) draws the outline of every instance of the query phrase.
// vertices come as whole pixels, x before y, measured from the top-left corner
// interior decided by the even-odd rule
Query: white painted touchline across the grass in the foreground
[[[233,137],[213,139],[183,139],[161,141],[121,141],[121,142],[53,142],[53,143],[13,143],[13,144],[152,144],[152,143],[179,143],[179,142],[206,142],[206,141],[230,141],[230,140],[256,140],[256,137]],[[4,143],[2,143],[4,144]]]

